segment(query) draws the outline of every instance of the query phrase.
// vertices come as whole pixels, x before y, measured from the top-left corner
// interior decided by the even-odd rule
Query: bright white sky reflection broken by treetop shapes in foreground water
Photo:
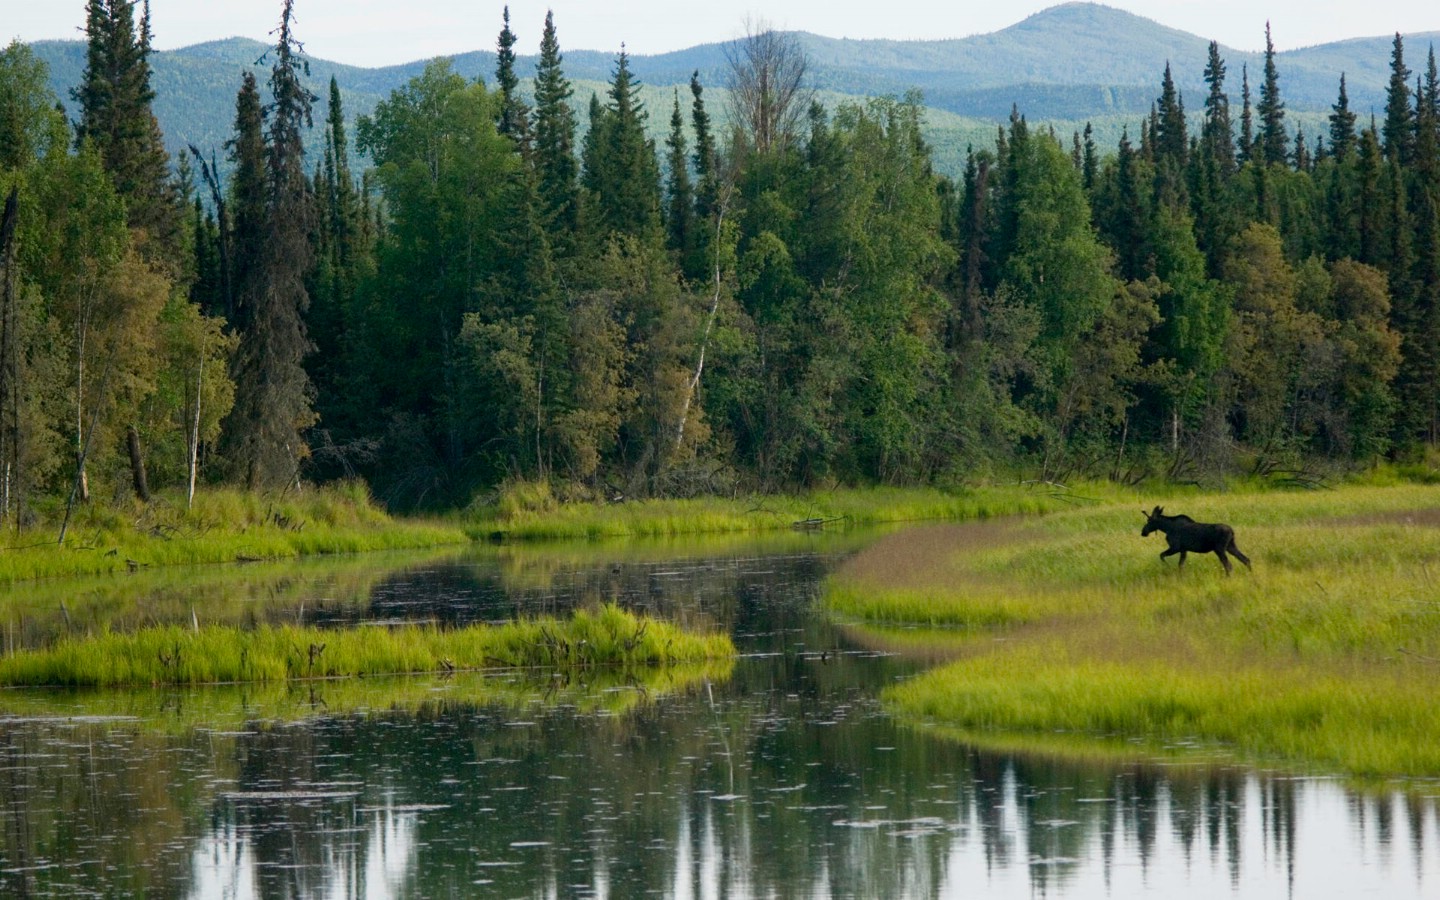
[[[959,804],[932,798],[936,808],[962,806],[956,815],[887,818],[884,809],[868,809],[871,818],[835,819],[832,851],[854,860],[887,855],[883,845],[913,844],[920,852],[910,864],[868,884],[832,881],[822,867],[802,881],[760,884],[752,873],[755,831],[747,816],[739,827],[723,828],[721,819],[744,809],[747,798],[672,798],[678,815],[674,840],[660,845],[603,847],[592,840],[588,877],[576,881],[576,870],[552,870],[531,884],[534,897],[595,896],[626,897],[628,886],[613,884],[613,854],[668,854],[670,876],[664,896],[674,900],[780,896],[811,897],[1430,897],[1440,877],[1437,824],[1431,802],[1417,808],[1398,795],[1361,798],[1320,779],[1284,782],[1248,775],[1241,792],[1224,801],[1225,821],[1192,816],[1194,809],[1161,782],[1156,802],[1145,815],[1155,825],[1145,834],[1142,822],[1126,821],[1129,812],[1115,796],[1074,798],[1093,812],[1081,819],[1035,818],[1034,786],[1009,772],[999,785],[969,786],[971,796]],[[1282,815],[1267,791],[1283,783],[1293,799],[1293,821]],[[1197,789],[1204,789],[1198,786]],[[384,900],[416,894],[416,867],[425,848],[418,825],[438,809],[406,806],[354,808],[354,831],[333,832],[321,860],[308,870],[265,878],[252,845],[253,832],[232,821],[220,821],[192,854],[189,896],[246,900],[271,896],[261,886],[289,883],[287,896],[328,900]],[[1231,818],[1233,816],[1233,818]],[[1063,832],[1090,831],[1079,847],[1057,852]],[[926,842],[948,835],[949,851],[940,858],[923,851]],[[586,852],[577,837],[575,848]],[[596,838],[596,835],[590,835]],[[492,884],[484,873],[530,867],[536,852],[554,850],[544,841],[513,841],[513,858],[482,860],[478,891]],[[1076,852],[1079,850],[1079,852]],[[359,857],[359,858],[357,858]],[[294,870],[294,863],[272,864]],[[274,873],[272,873],[274,876]],[[878,893],[876,893],[878,891]]]

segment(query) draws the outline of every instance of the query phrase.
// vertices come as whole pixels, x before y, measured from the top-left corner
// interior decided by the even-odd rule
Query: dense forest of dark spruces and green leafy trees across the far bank
[[[1267,33],[1237,108],[1211,45],[1202,108],[1156,73],[1113,150],[1017,109],[952,181],[917,95],[825,109],[769,30],[724,109],[698,78],[645,109],[621,52],[576,115],[553,17],[521,95],[505,12],[492,79],[436,60],[351,130],[292,7],[230,140],[177,158],[148,0],[88,1],[75,122],[0,52],[9,521],[196,480],[403,510],[1293,475],[1440,439],[1440,76],[1398,35],[1382,120],[1336,73],[1328,131],[1287,128]]]

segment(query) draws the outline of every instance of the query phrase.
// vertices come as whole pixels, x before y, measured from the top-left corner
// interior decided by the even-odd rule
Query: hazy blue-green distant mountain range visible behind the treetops
[[[567,37],[559,22],[562,48]],[[1283,29],[1283,23],[1276,23]],[[989,143],[995,124],[1017,105],[1031,122],[1051,122],[1061,134],[1096,122],[1102,147],[1113,147],[1119,131],[1149,112],[1159,95],[1166,62],[1194,115],[1205,96],[1204,68],[1210,42],[1094,3],[1066,3],[991,35],[955,40],[848,40],[796,33],[811,60],[814,86],[827,102],[876,95],[923,94],[930,108],[930,143],[942,170],[955,173],[966,143]],[[1407,63],[1424,68],[1426,52],[1440,32],[1405,35]],[[583,37],[580,37],[583,40]],[[1355,37],[1300,50],[1277,53],[1280,95],[1292,121],[1315,135],[1339,86],[1344,72],[1351,108],[1365,117],[1382,114],[1390,79],[1390,50],[1394,36]],[[48,40],[32,45],[50,66],[55,92],[72,107],[71,88],[85,68],[85,45],[78,40]],[[217,153],[230,134],[235,94],[240,71],[268,73],[268,46],[232,37],[153,58],[156,115],[171,153],[186,144]],[[1241,68],[1248,66],[1257,89],[1263,65],[1260,53],[1221,49],[1228,69],[1225,88],[1238,118]],[[495,58],[477,50],[452,58],[455,71],[467,78],[492,81]],[[350,117],[370,112],[390,91],[419,75],[428,60],[364,69],[311,59],[311,89],[328,96],[334,75]],[[518,71],[534,71],[534,56],[521,56]],[[596,50],[566,50],[564,72],[575,82],[577,108],[589,104],[590,92],[603,95],[615,66],[615,55]],[[716,114],[723,112],[726,45],[707,43],[674,53],[631,56],[631,68],[647,85],[644,98],[652,111],[651,127],[660,132],[668,122],[672,89],[687,85],[698,72]],[[688,108],[688,92],[681,92]],[[321,104],[323,105],[323,104]],[[317,108],[317,120],[323,109]],[[585,121],[583,115],[580,118]],[[318,140],[318,135],[317,135]]]

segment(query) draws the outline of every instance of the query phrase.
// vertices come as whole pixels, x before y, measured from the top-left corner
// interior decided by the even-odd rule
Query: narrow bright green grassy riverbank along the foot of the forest
[[[85,504],[59,541],[59,510],[0,539],[0,585],[33,579],[127,573],[161,566],[255,563],[305,556],[422,550],[475,541],[557,541],[632,537],[760,534],[926,520],[1037,516],[1090,503],[1099,485],[1070,491],[1017,485],[844,488],[804,495],[559,503],[543,487],[444,518],[384,513],[364,485],[343,484],[278,495],[203,491],[148,505]],[[53,520],[53,521],[52,521]]]

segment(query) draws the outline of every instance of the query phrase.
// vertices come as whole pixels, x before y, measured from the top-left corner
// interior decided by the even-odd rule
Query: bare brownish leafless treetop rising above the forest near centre
[[[753,20],[744,29],[744,37],[726,46],[730,121],[755,151],[769,153],[795,138],[809,109],[809,59],[793,33]]]

